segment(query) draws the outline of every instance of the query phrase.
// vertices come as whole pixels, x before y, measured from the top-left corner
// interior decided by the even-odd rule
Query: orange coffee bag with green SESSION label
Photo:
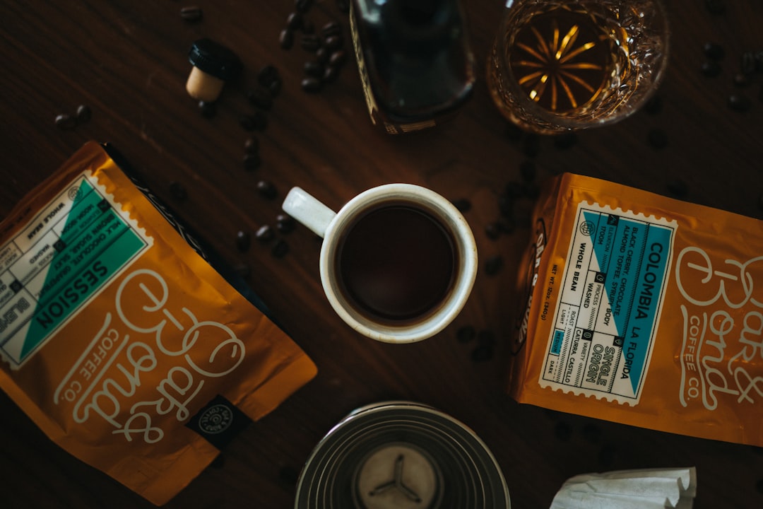
[[[160,210],[91,142],[0,223],[2,389],[154,504],[316,373]]]

